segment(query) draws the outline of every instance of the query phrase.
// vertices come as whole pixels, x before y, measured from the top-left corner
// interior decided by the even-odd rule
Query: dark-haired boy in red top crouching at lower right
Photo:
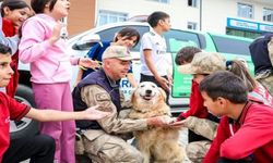
[[[244,80],[229,72],[207,76],[201,82],[200,90],[210,112],[223,116],[217,134],[224,131],[214,140],[218,143],[219,154],[206,158],[204,162],[273,161],[271,106],[250,102]]]

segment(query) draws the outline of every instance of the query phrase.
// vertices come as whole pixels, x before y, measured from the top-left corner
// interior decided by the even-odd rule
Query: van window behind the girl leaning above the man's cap
[[[124,27],[135,28],[140,33],[140,36],[143,36],[144,33],[149,32],[149,26],[118,26],[98,32],[97,34],[100,36],[102,41],[111,41],[115,34]],[[132,49],[132,51],[140,51],[140,42]]]

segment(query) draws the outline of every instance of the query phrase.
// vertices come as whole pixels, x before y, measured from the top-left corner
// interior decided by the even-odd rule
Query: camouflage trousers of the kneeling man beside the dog
[[[92,133],[84,134],[83,145],[93,163],[143,162],[141,152],[118,136],[102,134],[96,138],[92,137]]]

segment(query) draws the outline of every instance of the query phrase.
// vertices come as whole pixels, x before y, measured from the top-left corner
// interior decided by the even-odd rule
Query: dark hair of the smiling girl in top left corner
[[[29,5],[27,5],[27,3],[23,0],[3,0],[2,4],[1,4],[1,14],[2,16],[4,16],[4,8],[9,8],[11,11],[16,10],[16,9],[24,9],[24,8],[29,8]]]

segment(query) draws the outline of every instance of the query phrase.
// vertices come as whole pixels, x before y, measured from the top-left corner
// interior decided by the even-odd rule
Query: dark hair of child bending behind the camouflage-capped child
[[[185,47],[180,49],[176,54],[176,64],[181,65],[182,62],[190,63],[195,53],[201,52],[201,49],[197,47]]]

